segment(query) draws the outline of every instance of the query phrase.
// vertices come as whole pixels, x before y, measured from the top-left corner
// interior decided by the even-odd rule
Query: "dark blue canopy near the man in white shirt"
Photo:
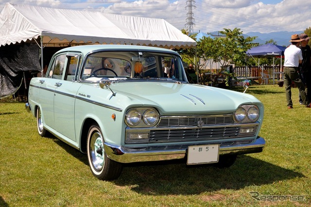
[[[284,55],[285,49],[285,47],[268,43],[266,45],[248,49],[246,55],[256,58],[277,57]]]

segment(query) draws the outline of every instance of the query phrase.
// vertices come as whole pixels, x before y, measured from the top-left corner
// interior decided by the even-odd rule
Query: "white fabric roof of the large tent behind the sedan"
[[[81,44],[194,47],[196,42],[164,19],[7,3],[0,13],[0,46],[43,37],[44,47]]]

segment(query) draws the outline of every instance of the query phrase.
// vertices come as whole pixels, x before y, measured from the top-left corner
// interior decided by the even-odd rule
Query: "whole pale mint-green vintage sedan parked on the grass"
[[[103,180],[122,163],[184,159],[229,167],[261,152],[263,105],[254,96],[190,84],[180,55],[144,46],[91,45],[53,55],[26,108],[48,132],[86,153]]]

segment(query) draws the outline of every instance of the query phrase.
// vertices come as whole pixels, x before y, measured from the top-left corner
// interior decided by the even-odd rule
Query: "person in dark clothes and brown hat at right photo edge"
[[[310,37],[307,34],[300,34],[301,40],[299,48],[302,51],[302,63],[299,64],[299,75],[302,82],[307,85],[307,98],[311,101],[311,48],[308,45]],[[308,93],[309,92],[309,93]],[[302,104],[302,99],[299,96],[299,102]]]

